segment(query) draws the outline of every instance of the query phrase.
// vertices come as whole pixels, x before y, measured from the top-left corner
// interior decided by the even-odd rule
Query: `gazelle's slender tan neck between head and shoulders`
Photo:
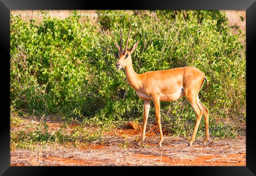
[[[139,80],[139,74],[134,71],[134,67],[132,66],[132,61],[124,67],[125,75],[128,83],[135,90],[139,89],[141,80]]]

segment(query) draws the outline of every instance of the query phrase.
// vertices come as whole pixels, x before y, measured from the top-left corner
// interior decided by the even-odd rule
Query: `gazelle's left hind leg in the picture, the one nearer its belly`
[[[203,114],[202,107],[201,107],[199,101],[197,101],[197,94],[198,93],[190,92],[186,96],[187,100],[190,102],[191,106],[193,107],[193,109],[194,109],[194,111],[195,111],[195,113],[197,115],[197,122],[196,122],[196,125],[195,125],[195,129],[193,131],[193,135],[191,137],[191,140],[190,140],[188,146],[192,145],[192,143],[195,141],[195,137],[196,137],[196,134],[197,134],[198,126],[199,126],[199,123],[201,121],[202,114]]]

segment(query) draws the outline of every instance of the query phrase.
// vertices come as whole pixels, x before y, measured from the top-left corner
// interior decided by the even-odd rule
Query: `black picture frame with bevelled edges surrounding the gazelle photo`
[[[141,0],[141,1],[68,1],[68,0],[0,0],[0,49],[1,49],[1,86],[2,93],[2,110],[4,114],[1,116],[0,127],[0,174],[2,175],[52,175],[53,170],[58,174],[66,174],[68,170],[75,170],[74,174],[82,171],[89,174],[89,170],[98,169],[99,167],[10,167],[10,123],[9,123],[9,31],[10,31],[10,10],[29,10],[29,9],[206,9],[206,10],[246,10],[246,106],[247,106],[247,123],[246,123],[246,166],[226,166],[226,167],[143,167],[145,171],[154,171],[159,174],[164,174],[162,169],[166,170],[167,174],[176,173],[202,176],[253,176],[256,174],[256,131],[254,129],[253,116],[253,100],[254,94],[254,44],[256,43],[256,2],[255,0]],[[251,102],[251,103],[250,103]],[[129,169],[130,167],[119,167],[121,169]],[[132,167],[134,168],[134,167]],[[136,167],[137,169],[140,167]],[[85,170],[86,169],[86,172]],[[111,167],[100,167],[100,169],[109,170],[110,173],[115,173],[115,169]],[[160,170],[159,170],[160,169]],[[123,174],[124,172],[116,172]],[[127,172],[129,173],[129,172]],[[134,174],[134,172],[130,172]],[[55,175],[55,174],[54,174]]]

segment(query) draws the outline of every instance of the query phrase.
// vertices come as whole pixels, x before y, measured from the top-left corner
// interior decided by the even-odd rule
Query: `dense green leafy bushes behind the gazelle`
[[[79,23],[78,16],[44,17],[30,23],[11,16],[10,105],[30,113],[52,112],[98,122],[141,118],[143,100],[126,82],[124,71],[115,69],[118,55],[113,40],[119,43],[120,23],[125,23],[124,40],[128,24],[132,25],[129,45],[139,40],[132,54],[137,73],[195,66],[210,82],[199,94],[210,109],[210,125],[219,127],[221,118],[245,117],[245,34],[232,34],[228,27],[220,30],[218,20],[203,12],[202,19],[186,11],[185,20],[182,13],[159,20],[147,12],[134,12],[110,22],[102,17],[95,25],[89,20]],[[101,24],[111,34],[102,33]],[[173,129],[180,125],[181,131],[187,131],[191,127],[186,124],[195,122],[193,114],[185,97],[161,102],[163,120]],[[185,126],[181,121],[186,121]],[[201,123],[199,132],[202,127]]]

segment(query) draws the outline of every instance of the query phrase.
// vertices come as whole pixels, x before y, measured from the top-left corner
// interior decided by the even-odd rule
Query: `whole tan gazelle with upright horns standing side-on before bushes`
[[[198,93],[204,84],[204,80],[206,80],[206,86],[208,86],[208,80],[206,79],[205,74],[195,67],[180,67],[161,71],[148,71],[142,74],[135,73],[132,66],[131,54],[136,49],[139,41],[137,41],[130,49],[127,49],[128,40],[131,33],[130,25],[126,45],[124,50],[122,50],[122,27],[120,31],[120,46],[114,41],[115,46],[119,51],[119,58],[115,65],[117,69],[124,67],[128,83],[132,86],[132,88],[135,89],[139,98],[144,99],[143,131],[141,140],[139,140],[137,144],[140,145],[141,142],[145,140],[145,131],[151,100],[154,103],[160,133],[160,141],[158,146],[161,147],[161,143],[163,142],[163,133],[160,120],[160,100],[171,102],[176,101],[185,95],[197,115],[195,129],[188,146],[195,141],[195,136],[202,115],[204,115],[206,133],[203,144],[206,145],[206,142],[209,141],[209,111],[198,98]]]

